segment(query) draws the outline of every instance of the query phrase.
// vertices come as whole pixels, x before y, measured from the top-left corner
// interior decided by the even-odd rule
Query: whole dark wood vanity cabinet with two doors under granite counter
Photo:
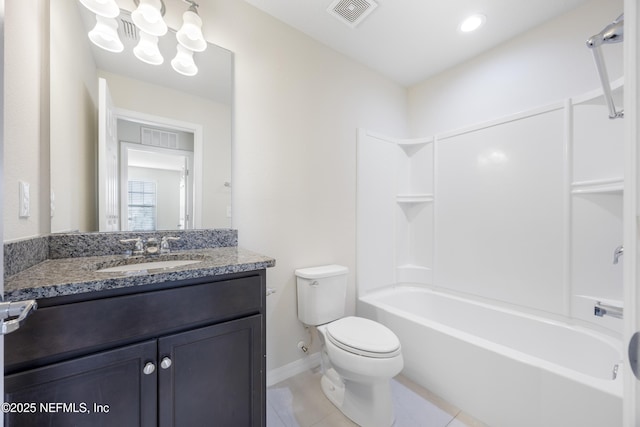
[[[6,336],[5,426],[265,425],[264,270],[92,296]]]

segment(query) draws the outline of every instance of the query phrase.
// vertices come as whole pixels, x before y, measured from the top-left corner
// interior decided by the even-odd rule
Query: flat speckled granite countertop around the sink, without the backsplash
[[[128,274],[97,271],[111,266],[168,259],[193,259],[199,262],[171,269]],[[4,295],[6,301],[50,298],[261,270],[273,266],[275,266],[273,258],[237,246],[175,251],[170,254],[145,257],[106,255],[48,259],[6,278]]]

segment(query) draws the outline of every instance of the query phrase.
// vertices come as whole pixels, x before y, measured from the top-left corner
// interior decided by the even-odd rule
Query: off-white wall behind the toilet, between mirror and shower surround
[[[296,344],[308,338],[296,268],[348,266],[354,311],[356,128],[405,134],[406,91],[244,1],[200,12],[205,36],[234,52],[233,225],[241,246],[277,262],[267,270],[273,369],[300,358]]]

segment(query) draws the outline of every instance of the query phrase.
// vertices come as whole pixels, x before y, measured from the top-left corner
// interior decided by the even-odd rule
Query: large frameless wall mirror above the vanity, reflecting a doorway
[[[120,53],[90,42],[96,17],[78,0],[51,2],[53,233],[231,227],[233,54],[208,43],[195,76],[174,71],[188,5],[165,4],[164,62],[150,65],[133,54],[133,1],[118,0]]]

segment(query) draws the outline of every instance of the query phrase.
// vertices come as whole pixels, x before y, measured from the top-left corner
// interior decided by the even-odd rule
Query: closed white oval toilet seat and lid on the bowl
[[[342,350],[365,357],[400,354],[400,341],[389,328],[362,317],[344,317],[326,327],[327,338]]]

